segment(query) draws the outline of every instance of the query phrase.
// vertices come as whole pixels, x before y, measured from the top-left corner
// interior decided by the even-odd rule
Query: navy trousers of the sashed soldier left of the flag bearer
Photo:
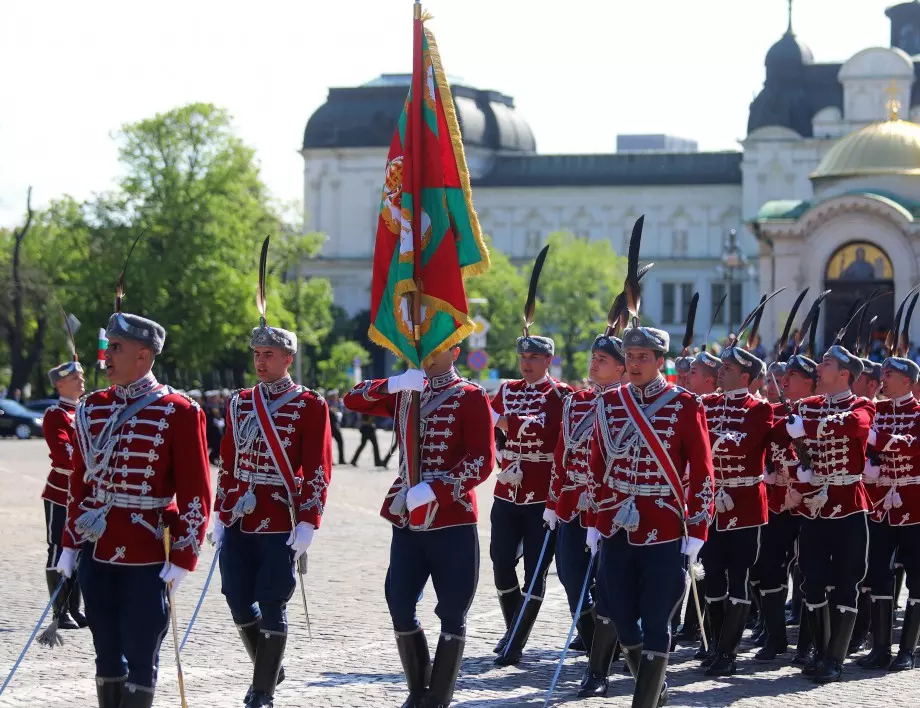
[[[287,632],[285,607],[297,587],[287,533],[243,533],[229,526],[220,548],[221,592],[238,625],[261,619],[268,632]]]

